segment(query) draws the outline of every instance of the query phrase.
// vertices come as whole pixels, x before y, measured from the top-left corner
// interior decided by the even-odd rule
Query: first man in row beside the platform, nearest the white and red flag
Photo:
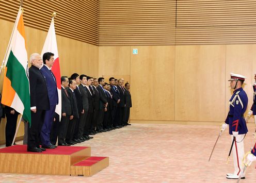
[[[65,141],[67,130],[69,126],[69,121],[73,119],[71,98],[68,95],[67,87],[69,86],[69,79],[67,76],[62,76],[61,80],[61,120],[58,129],[58,145],[68,146]]]

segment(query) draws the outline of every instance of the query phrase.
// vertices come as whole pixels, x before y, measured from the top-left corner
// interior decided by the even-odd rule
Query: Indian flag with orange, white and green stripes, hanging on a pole
[[[14,24],[4,60],[2,104],[12,107],[31,123],[27,50],[22,9]]]

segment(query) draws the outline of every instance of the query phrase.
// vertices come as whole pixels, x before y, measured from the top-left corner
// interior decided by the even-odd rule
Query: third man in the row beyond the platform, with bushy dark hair
[[[77,122],[75,123],[75,130],[74,130],[74,138],[73,141],[76,143],[81,143],[84,142],[84,140],[79,139],[78,136],[78,129],[79,129],[79,124],[81,123],[81,121],[84,119],[84,115],[85,115],[85,110],[83,109],[83,99],[82,99],[82,94],[79,90],[79,85],[80,85],[80,78],[79,78],[79,74],[77,73],[73,73],[70,76],[70,79],[74,79],[76,82],[76,88],[74,90],[75,93],[75,98],[76,98],[76,105],[77,105],[77,110],[78,110],[78,114],[79,114],[79,119],[77,120]]]

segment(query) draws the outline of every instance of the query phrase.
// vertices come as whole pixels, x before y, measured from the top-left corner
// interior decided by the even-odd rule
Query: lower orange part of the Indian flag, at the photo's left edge
[[[5,75],[4,75],[2,104],[10,107],[16,92],[11,87],[11,81],[8,79],[8,77],[6,77],[6,72],[7,72],[7,67],[5,68]]]

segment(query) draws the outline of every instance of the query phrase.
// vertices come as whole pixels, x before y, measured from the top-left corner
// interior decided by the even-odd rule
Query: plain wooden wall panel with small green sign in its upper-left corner
[[[174,46],[131,46],[131,120],[174,120]]]

